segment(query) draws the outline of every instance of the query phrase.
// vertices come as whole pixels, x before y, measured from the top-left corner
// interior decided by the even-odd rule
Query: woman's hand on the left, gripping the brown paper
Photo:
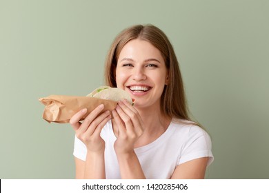
[[[104,125],[111,119],[111,115],[110,111],[100,114],[103,108],[103,104],[99,105],[81,123],[79,120],[87,112],[87,109],[83,109],[74,114],[69,122],[76,132],[77,138],[86,145],[90,152],[99,153],[105,150],[105,141],[101,138],[100,133]]]

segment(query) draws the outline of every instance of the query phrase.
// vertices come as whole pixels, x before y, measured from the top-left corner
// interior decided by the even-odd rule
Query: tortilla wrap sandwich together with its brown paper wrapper
[[[133,105],[128,92],[119,88],[101,86],[87,96],[50,95],[40,98],[39,101],[45,105],[43,119],[49,123],[68,123],[71,117],[83,108],[87,108],[87,113],[81,118],[81,121],[97,106],[104,105],[105,108],[102,112],[111,111],[116,108],[117,102],[123,99]]]

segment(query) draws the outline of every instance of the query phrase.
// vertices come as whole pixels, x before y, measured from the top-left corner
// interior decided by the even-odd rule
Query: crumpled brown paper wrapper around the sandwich
[[[116,101],[89,96],[50,95],[48,97],[40,98],[39,101],[45,105],[43,119],[49,123],[69,123],[74,114],[83,108],[87,108],[87,113],[80,120],[82,121],[88,114],[90,114],[90,112],[92,112],[92,110],[97,108],[98,105],[104,105],[105,108],[102,112],[105,112],[106,110],[114,110],[117,105]]]

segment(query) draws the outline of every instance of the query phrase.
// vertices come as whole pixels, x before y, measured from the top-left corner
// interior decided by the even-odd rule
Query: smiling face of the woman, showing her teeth
[[[124,45],[116,68],[117,88],[129,92],[135,107],[158,105],[168,70],[161,52],[148,41],[134,39]]]

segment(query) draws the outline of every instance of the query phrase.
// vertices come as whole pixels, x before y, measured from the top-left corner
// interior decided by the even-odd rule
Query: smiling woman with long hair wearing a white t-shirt
[[[106,84],[126,90],[135,105],[100,105],[76,132],[77,179],[203,179],[212,163],[208,134],[190,121],[179,63],[159,28],[132,26],[114,40],[106,60]],[[111,119],[111,114],[113,119]]]

